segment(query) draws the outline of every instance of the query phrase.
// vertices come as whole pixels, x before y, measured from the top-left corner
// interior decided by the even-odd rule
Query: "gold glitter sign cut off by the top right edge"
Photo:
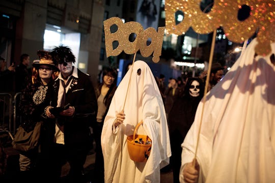
[[[217,0],[208,13],[201,10],[200,3],[201,0],[166,0],[167,33],[181,35],[192,27],[199,34],[208,34],[222,26],[229,40],[243,42],[258,31],[256,52],[270,53],[270,43],[275,42],[275,0]],[[251,11],[248,18],[240,21],[238,12],[243,5]],[[176,25],[177,11],[184,13],[184,19]]]

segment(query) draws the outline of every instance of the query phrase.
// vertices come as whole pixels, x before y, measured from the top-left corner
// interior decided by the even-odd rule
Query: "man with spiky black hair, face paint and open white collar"
[[[62,166],[68,161],[70,171],[68,180],[84,182],[83,165],[89,152],[89,122],[97,112],[94,86],[87,74],[73,66],[75,56],[69,47],[59,46],[51,51],[52,59],[60,70],[53,84],[54,107],[64,107],[56,117],[56,142],[53,149],[52,168],[60,176]],[[51,107],[47,110],[51,114]]]

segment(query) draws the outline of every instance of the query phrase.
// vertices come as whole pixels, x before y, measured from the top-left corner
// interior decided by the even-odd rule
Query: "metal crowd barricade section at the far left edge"
[[[0,123],[3,129],[11,130],[12,125],[12,95],[0,93]]]

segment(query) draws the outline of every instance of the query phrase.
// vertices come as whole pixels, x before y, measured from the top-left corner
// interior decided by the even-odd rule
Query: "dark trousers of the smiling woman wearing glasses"
[[[95,177],[96,182],[104,182],[104,159],[101,148],[101,132],[103,128],[103,122],[96,122],[94,127],[94,138],[96,143],[96,157],[95,157]]]

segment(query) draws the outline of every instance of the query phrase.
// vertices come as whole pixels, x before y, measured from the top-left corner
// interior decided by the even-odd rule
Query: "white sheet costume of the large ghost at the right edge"
[[[197,160],[199,182],[275,182],[275,53],[255,55],[254,39],[225,78],[207,94]],[[184,164],[194,159],[201,103],[182,143]]]

